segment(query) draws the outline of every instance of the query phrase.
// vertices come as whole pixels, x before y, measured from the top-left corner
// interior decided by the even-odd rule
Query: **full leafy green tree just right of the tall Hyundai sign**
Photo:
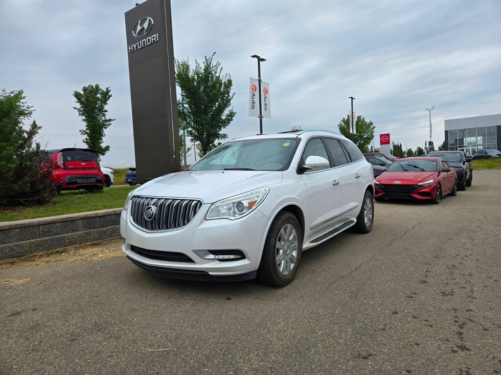
[[[195,60],[190,67],[188,59],[176,60],[176,82],[182,100],[177,101],[180,120],[186,122],[186,133],[200,143],[201,156],[227,137],[222,130],[230,124],[236,112],[231,106],[231,76],[222,74],[219,61],[213,61],[215,52],[204,57],[203,64]]]

